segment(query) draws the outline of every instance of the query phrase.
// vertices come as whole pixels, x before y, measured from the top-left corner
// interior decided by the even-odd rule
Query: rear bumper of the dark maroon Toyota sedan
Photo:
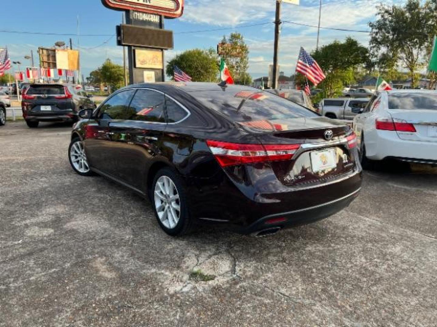
[[[362,171],[354,172],[326,184],[290,188],[288,192],[245,196],[230,180],[220,187],[204,185],[201,192],[190,187],[191,215],[196,221],[222,225],[242,234],[266,228],[288,228],[327,218],[347,207],[361,189]],[[285,218],[281,221],[270,221]]]

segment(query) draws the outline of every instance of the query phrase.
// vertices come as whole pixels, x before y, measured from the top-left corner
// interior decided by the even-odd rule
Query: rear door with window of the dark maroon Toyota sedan
[[[109,123],[117,157],[116,177],[141,191],[146,168],[163,153],[166,129],[165,95],[153,89],[138,89],[124,120]]]

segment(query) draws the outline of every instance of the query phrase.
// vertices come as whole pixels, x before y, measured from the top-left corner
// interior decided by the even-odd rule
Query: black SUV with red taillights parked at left
[[[95,108],[90,97],[74,85],[31,84],[23,91],[23,118],[31,128],[38,127],[40,121],[74,123],[77,112]]]

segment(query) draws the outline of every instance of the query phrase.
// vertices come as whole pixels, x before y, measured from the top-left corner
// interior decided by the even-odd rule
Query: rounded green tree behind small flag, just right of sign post
[[[166,74],[174,75],[177,66],[190,75],[193,82],[217,82],[218,64],[217,55],[213,49],[191,49],[177,54],[167,63]]]

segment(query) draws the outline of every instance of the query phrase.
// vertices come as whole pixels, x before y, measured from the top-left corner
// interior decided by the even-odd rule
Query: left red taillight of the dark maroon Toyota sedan
[[[300,148],[299,144],[238,144],[212,140],[206,143],[222,167],[290,160]]]

